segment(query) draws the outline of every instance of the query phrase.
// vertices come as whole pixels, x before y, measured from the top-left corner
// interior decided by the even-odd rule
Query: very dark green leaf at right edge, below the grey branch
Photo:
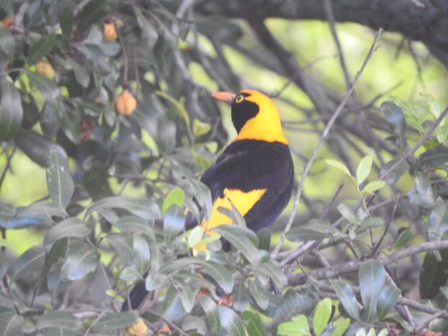
[[[437,261],[433,253],[426,253],[420,272],[420,296],[432,300],[448,280],[448,249],[439,250],[442,260]]]

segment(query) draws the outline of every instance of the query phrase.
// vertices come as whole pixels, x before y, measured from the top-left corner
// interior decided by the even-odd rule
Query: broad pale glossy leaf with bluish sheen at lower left
[[[92,272],[98,265],[99,253],[87,243],[75,246],[67,255],[67,260],[61,269],[63,281],[76,280]]]

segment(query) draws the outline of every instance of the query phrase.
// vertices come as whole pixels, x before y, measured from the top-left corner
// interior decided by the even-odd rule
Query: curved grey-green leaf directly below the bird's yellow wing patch
[[[252,265],[255,267],[260,265],[260,252],[258,252],[258,249],[254,245],[254,241],[258,245],[258,237],[255,235],[255,232],[250,229],[241,228],[238,225],[219,225],[213,230],[241,251]],[[248,237],[251,237],[251,239]]]

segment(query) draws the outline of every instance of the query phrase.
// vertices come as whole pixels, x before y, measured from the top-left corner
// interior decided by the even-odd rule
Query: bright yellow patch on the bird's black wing
[[[205,219],[202,221],[202,230],[207,232],[208,235],[213,235],[215,232],[211,232],[209,230],[216,228],[219,225],[233,224],[232,220],[228,216],[225,216],[225,214],[221,214],[221,212],[218,211],[218,207],[232,210],[232,205],[230,204],[230,202],[232,202],[232,204],[239,211],[239,214],[244,216],[250,209],[252,209],[255,203],[260,200],[262,195],[266,193],[266,190],[267,189],[255,189],[244,193],[244,191],[238,189],[225,188],[223,197],[218,197],[211,208],[209,222],[207,223]]]

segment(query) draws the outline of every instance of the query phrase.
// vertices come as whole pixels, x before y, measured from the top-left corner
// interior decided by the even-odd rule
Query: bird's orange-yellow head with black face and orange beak
[[[281,129],[279,111],[265,94],[242,90],[238,94],[216,92],[213,97],[232,108],[232,123],[238,133],[233,141],[253,139],[288,144]]]

